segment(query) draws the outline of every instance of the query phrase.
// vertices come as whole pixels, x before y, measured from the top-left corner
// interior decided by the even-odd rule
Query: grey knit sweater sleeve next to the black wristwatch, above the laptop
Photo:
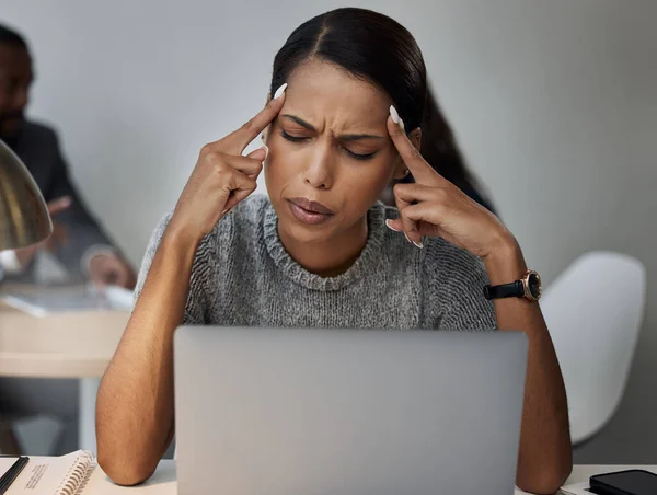
[[[497,327],[492,301],[484,297],[488,276],[482,261],[442,239],[427,245],[425,290],[430,320],[439,330],[485,331]]]

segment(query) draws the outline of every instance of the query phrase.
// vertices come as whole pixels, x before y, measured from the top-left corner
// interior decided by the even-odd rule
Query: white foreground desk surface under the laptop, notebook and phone
[[[585,482],[593,474],[624,469],[645,469],[657,473],[657,465],[576,465],[573,469],[573,474],[568,479],[567,484]],[[100,468],[96,468],[83,493],[93,495],[129,495],[130,493],[176,495],[177,483],[175,461],[161,461],[155,474],[153,474],[147,483],[129,488],[113,484],[105,473]],[[521,495],[523,493],[525,492],[516,491],[516,495]]]

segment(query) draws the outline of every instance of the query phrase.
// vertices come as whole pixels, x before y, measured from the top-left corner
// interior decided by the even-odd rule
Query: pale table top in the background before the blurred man
[[[123,311],[35,318],[0,302],[0,376],[101,377],[128,318]]]

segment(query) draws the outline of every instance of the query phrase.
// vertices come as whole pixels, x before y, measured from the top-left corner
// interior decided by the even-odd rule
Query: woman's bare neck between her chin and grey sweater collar
[[[321,277],[344,274],[356,262],[367,243],[367,215],[351,228],[322,242],[300,242],[278,228],[280,242],[299,265]]]

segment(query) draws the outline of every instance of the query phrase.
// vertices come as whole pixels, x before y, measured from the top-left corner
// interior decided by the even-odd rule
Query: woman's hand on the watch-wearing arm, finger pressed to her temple
[[[487,258],[515,244],[512,234],[499,219],[436,172],[413,146],[401,124],[388,118],[388,131],[401,159],[415,179],[414,184],[396,184],[394,198],[400,218],[388,227],[422,248],[423,237],[446,241]]]

